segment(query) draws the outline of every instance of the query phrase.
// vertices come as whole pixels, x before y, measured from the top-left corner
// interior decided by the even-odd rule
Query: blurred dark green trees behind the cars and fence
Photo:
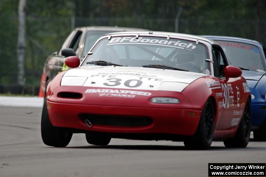
[[[21,0],[22,1],[22,0]],[[19,0],[0,2],[0,84],[23,81],[17,43]],[[25,84],[39,85],[46,57],[59,49],[78,26],[124,26],[195,35],[226,35],[255,39],[266,44],[265,0],[27,0]],[[22,44],[22,42],[21,42]],[[23,47],[22,47],[23,48]],[[18,51],[19,53],[19,51]],[[19,74],[23,75],[23,74]],[[23,84],[23,83],[21,83]]]

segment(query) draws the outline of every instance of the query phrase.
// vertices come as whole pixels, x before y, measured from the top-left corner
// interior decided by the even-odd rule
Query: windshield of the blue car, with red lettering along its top
[[[251,71],[266,71],[258,47],[240,42],[217,41],[217,43],[223,48],[233,66]]]

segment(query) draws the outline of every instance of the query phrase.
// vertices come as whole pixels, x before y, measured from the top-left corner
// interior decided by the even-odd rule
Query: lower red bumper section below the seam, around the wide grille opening
[[[121,107],[55,103],[47,101],[48,113],[52,125],[87,131],[113,133],[169,133],[193,135],[197,129],[201,111],[188,109],[158,109],[146,107]],[[196,116],[188,116],[195,112]],[[82,114],[145,116],[152,119],[152,124],[140,127],[124,127],[113,125],[93,125],[89,128],[82,120]]]

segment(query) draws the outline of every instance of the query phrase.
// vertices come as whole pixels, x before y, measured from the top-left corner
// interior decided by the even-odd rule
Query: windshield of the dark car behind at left
[[[82,57],[85,57],[86,53],[90,51],[90,48],[94,43],[102,36],[113,31],[89,31],[84,42],[84,47],[82,51]]]

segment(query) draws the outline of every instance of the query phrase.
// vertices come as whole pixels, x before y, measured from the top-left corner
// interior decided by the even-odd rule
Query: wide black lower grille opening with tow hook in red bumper
[[[88,119],[92,125],[111,125],[122,127],[141,127],[152,124],[150,117],[144,116],[115,116],[115,115],[96,115],[81,114],[82,120]]]

